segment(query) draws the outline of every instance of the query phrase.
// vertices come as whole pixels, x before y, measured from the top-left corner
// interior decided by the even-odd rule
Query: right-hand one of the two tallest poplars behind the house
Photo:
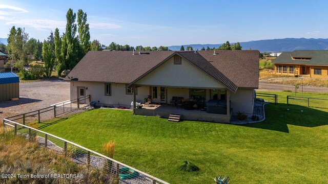
[[[87,13],[81,9],[77,12],[77,26],[80,45],[83,50],[83,56],[90,51],[90,32],[87,24]]]

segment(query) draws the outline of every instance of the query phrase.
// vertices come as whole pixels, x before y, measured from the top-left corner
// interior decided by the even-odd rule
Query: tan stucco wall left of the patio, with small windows
[[[111,84],[111,96],[105,96],[105,83],[104,82],[79,82],[71,81],[70,95],[71,99],[77,98],[77,86],[88,87],[86,89],[86,95],[90,95],[90,101],[99,101],[102,104],[111,104],[114,106],[126,106],[130,107],[132,102],[132,95],[126,95],[126,84],[112,83]],[[138,87],[138,95],[136,95],[136,101],[144,102],[144,98],[149,95],[149,87]]]

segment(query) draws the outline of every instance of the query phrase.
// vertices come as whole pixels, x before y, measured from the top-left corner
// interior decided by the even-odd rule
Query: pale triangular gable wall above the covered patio
[[[181,64],[174,64],[173,57],[135,84],[185,88],[226,88],[190,61],[182,58]]]

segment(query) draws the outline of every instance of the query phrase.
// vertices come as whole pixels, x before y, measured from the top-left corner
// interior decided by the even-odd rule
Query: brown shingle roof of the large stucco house
[[[149,51],[132,55],[132,51],[90,51],[68,76],[78,78],[78,81],[131,83],[164,60],[179,54],[233,91],[238,87],[258,88],[258,51],[216,53]],[[65,80],[69,79],[66,77]]]

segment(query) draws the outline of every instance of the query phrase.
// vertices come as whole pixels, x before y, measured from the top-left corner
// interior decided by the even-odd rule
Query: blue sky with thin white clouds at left
[[[3,1],[0,38],[12,26],[44,40],[66,12],[88,14],[91,39],[108,45],[216,44],[274,38],[328,38],[328,1]]]

